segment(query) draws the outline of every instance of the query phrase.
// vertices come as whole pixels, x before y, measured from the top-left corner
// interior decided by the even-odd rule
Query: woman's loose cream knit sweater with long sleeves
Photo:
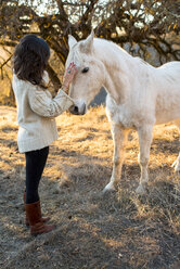
[[[43,80],[48,82],[48,74]],[[43,149],[59,138],[54,117],[68,110],[73,100],[62,90],[52,99],[48,90],[21,80],[13,74],[17,104],[17,144],[21,153]]]

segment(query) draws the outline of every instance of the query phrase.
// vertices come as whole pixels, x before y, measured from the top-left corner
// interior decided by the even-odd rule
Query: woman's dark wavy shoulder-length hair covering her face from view
[[[50,57],[48,43],[36,35],[27,35],[20,40],[13,55],[15,75],[33,85],[43,86],[43,72]]]

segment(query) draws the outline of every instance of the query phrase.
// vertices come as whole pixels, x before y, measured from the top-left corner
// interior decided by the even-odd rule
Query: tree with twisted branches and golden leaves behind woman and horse
[[[180,0],[0,0],[0,44],[15,47],[21,37],[34,33],[47,40],[62,65],[68,54],[68,34],[80,40],[91,28],[97,37],[123,47],[128,43],[132,54],[145,60],[147,47],[157,52],[159,63],[180,60]],[[60,88],[53,63],[48,72],[55,89]]]

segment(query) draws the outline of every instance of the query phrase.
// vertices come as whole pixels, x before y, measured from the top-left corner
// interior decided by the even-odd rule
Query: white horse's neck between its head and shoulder
[[[99,40],[97,42],[94,53],[95,57],[105,66],[103,86],[117,104],[124,103],[129,94],[129,62],[133,57],[116,44],[106,40]]]

